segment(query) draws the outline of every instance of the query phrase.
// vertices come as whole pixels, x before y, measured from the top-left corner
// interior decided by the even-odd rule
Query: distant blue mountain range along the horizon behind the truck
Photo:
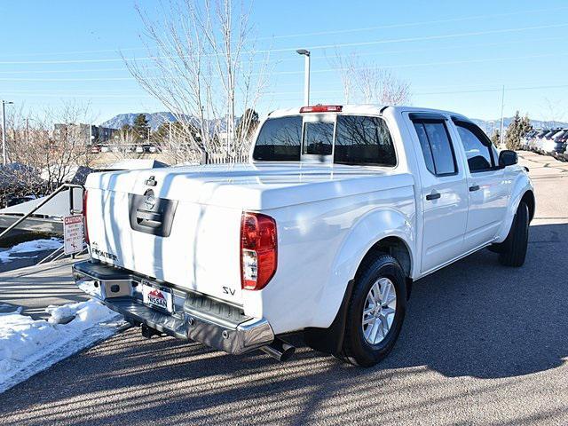
[[[152,130],[158,129],[162,122],[175,122],[176,117],[169,112],[162,112],[162,113],[128,113],[128,114],[118,114],[115,115],[110,120],[101,123],[103,127],[109,127],[111,129],[120,129],[124,124],[132,125],[136,116],[138,114],[146,114],[146,119],[148,120],[148,124]],[[496,120],[480,120],[480,119],[471,119],[475,122],[481,129],[485,131],[486,134],[491,135],[493,130],[499,129],[501,126],[501,119]],[[510,122],[513,121],[513,117],[503,118],[503,127],[506,129]],[[548,129],[548,128],[555,128],[555,127],[566,127],[568,128],[568,122],[542,122],[540,120],[531,120],[534,129]]]

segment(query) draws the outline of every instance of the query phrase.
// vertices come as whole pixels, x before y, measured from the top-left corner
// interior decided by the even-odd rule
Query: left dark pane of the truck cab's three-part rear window
[[[253,159],[265,162],[298,162],[302,141],[302,117],[270,118],[258,133]]]

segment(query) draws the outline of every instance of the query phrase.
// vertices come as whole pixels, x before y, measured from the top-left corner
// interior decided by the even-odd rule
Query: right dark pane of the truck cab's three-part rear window
[[[397,157],[385,122],[378,117],[338,115],[334,162],[396,166]]]

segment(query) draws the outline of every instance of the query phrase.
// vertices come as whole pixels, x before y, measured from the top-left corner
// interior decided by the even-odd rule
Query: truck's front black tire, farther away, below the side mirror
[[[529,241],[529,207],[525,201],[521,201],[517,213],[513,218],[513,224],[503,241],[499,262],[505,266],[519,267],[525,264],[526,248]]]

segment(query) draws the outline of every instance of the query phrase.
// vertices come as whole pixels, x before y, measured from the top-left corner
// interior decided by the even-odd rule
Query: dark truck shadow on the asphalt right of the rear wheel
[[[531,226],[525,265],[482,250],[416,282],[397,348],[381,367],[446,376],[528,375],[568,356],[568,225]]]

